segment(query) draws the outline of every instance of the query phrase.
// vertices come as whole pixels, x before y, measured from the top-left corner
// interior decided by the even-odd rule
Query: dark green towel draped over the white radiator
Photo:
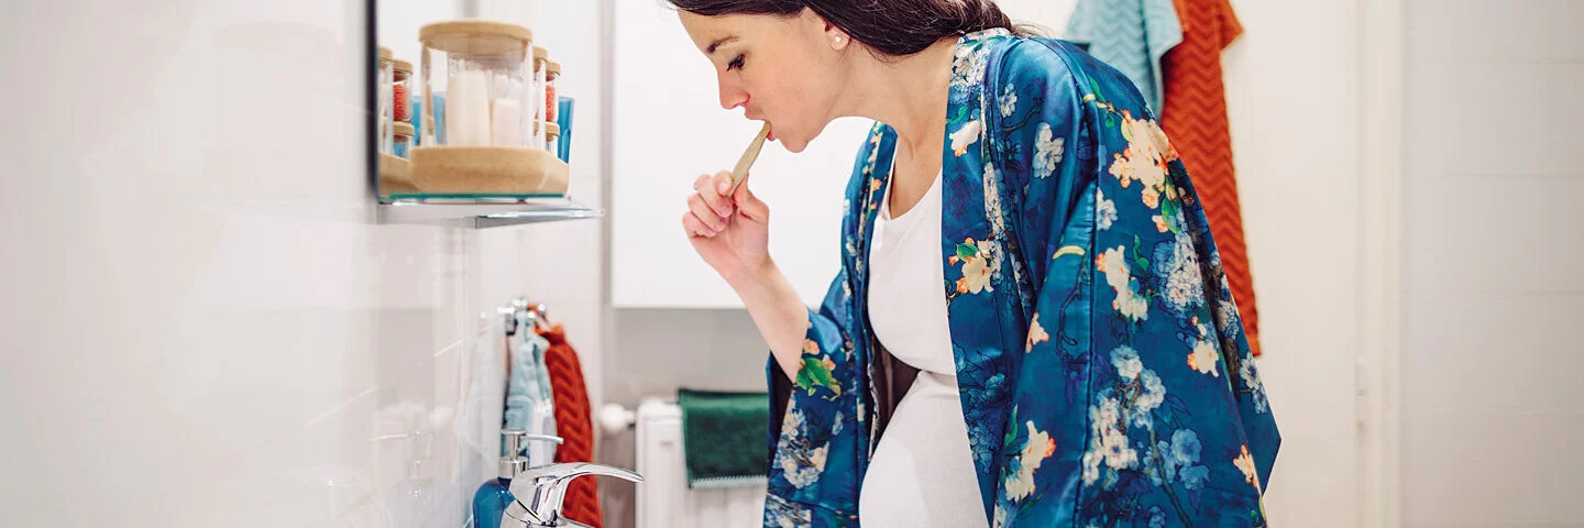
[[[762,392],[676,390],[683,407],[687,488],[765,485],[770,453],[770,396]]]

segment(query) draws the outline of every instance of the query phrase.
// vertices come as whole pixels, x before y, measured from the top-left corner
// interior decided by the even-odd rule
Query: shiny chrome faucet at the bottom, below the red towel
[[[561,501],[567,498],[567,484],[581,476],[607,476],[629,482],[643,482],[643,476],[637,473],[586,461],[529,468],[512,479],[512,496],[516,499],[501,515],[501,526],[584,526],[561,517]]]

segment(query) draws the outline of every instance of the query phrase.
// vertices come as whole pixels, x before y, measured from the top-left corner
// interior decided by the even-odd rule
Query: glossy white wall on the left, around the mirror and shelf
[[[447,433],[497,341],[478,312],[529,293],[597,352],[599,276],[565,276],[599,260],[559,252],[599,224],[374,225],[363,2],[8,10],[0,525],[461,525],[390,493],[415,460],[455,499],[493,473]],[[597,68],[567,62],[599,205]],[[440,425],[428,453],[375,441],[409,412]]]

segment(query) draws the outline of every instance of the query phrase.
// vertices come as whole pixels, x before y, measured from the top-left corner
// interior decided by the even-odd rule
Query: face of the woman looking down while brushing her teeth
[[[840,87],[840,30],[805,8],[794,16],[681,11],[683,29],[714,65],[721,108],[770,122],[770,138],[802,152],[830,124]],[[846,36],[843,44],[846,44]]]

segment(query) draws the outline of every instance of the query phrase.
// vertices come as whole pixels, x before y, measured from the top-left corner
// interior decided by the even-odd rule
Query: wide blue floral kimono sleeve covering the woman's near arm
[[[1004,434],[1019,471],[995,509],[1009,526],[1114,518],[1120,501],[1264,526],[1280,436],[1171,141],[1120,73],[1071,44],[1020,41],[998,82],[993,140],[1038,293]]]

